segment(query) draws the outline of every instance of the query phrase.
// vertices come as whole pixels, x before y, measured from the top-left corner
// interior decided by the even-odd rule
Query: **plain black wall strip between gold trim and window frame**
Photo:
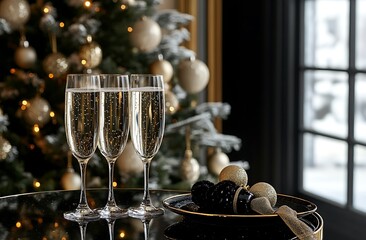
[[[241,138],[241,149],[228,156],[248,161],[249,171],[260,154],[263,19],[261,1],[223,1],[223,102],[231,105],[223,132]]]

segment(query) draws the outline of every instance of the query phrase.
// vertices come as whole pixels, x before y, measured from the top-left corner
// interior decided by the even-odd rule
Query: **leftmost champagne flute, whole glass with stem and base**
[[[68,74],[65,90],[66,139],[80,166],[80,199],[76,209],[65,212],[68,220],[95,220],[100,216],[87,202],[85,174],[95,153],[99,134],[100,77],[97,74]]]

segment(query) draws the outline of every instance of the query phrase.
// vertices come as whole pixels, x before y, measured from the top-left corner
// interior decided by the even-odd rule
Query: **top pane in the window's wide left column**
[[[305,64],[348,67],[349,1],[305,1]]]

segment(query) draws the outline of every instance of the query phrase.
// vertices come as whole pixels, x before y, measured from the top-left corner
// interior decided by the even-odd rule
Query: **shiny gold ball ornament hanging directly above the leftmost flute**
[[[82,65],[87,69],[97,67],[103,59],[103,52],[100,45],[94,41],[87,42],[81,46],[79,57]]]

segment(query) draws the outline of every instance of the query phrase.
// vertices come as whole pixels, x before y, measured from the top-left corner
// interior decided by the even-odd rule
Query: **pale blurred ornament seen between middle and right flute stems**
[[[116,166],[122,176],[134,176],[144,170],[141,159],[131,141],[127,142],[121,156],[116,161]]]

